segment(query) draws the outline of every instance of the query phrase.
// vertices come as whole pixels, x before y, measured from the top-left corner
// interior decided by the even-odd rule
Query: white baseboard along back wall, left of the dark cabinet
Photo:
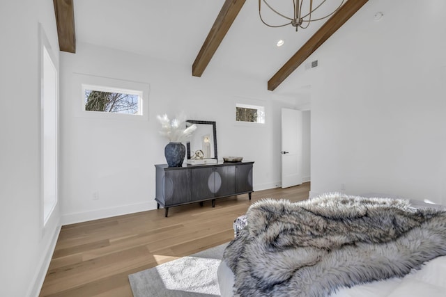
[[[98,220],[100,218],[122,216],[124,214],[134,214],[135,212],[148,211],[155,208],[156,204],[155,200],[153,200],[153,202],[129,204],[119,207],[110,207],[107,209],[97,209],[93,211],[78,212],[73,214],[63,214],[61,217],[61,222],[62,225],[69,225],[86,222],[88,220]]]

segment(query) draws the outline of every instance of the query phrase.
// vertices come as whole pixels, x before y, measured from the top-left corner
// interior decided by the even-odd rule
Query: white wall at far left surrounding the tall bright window
[[[0,296],[38,296],[59,234],[59,205],[43,229],[39,26],[59,58],[53,2],[0,4]]]

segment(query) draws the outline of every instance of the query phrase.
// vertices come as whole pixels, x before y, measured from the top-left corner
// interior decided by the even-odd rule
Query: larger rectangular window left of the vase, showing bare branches
[[[82,85],[84,110],[142,115],[142,91]]]

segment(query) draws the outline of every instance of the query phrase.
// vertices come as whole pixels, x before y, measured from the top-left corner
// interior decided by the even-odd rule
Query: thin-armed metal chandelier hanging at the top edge
[[[272,8],[266,0],[259,0],[259,17],[260,17],[261,21],[263,22],[263,24],[266,24],[266,26],[270,26],[272,28],[278,28],[278,27],[288,26],[289,24],[291,24],[292,26],[295,27],[295,31],[298,31],[298,28],[302,28],[302,29],[307,28],[309,26],[309,23],[311,23],[311,22],[320,21],[321,19],[326,19],[327,17],[330,17],[330,15],[332,15],[333,13],[336,13],[337,10],[339,10],[339,8],[341,8],[342,4],[344,4],[344,2],[345,2],[345,0],[338,0],[341,3],[331,13],[329,13],[328,15],[325,15],[324,17],[318,17],[316,19],[313,19],[312,18],[313,13],[316,10],[318,10],[318,8],[320,8],[323,5],[323,3],[325,3],[326,1],[327,0],[321,0],[320,3],[313,6],[313,0],[307,0],[308,3],[304,6],[303,3],[305,2],[305,0],[293,0],[294,16],[287,17],[286,15],[279,13],[275,8]],[[272,10],[274,13],[287,19],[286,24],[281,24],[281,25],[268,24],[263,19],[262,14],[261,14],[261,3],[262,2],[265,3],[265,5],[268,6],[268,8],[270,8],[270,10]],[[302,10],[305,10],[305,12],[303,12]]]

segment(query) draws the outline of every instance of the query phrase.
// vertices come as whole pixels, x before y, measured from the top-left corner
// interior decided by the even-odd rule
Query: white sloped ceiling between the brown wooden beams
[[[314,1],[318,2],[318,1]],[[174,61],[191,66],[224,0],[75,0],[78,42]],[[292,15],[290,0],[270,0]],[[324,6],[334,9],[339,0]],[[266,8],[266,6],[264,7]],[[322,7],[321,7],[322,8]],[[262,8],[263,11],[263,8]],[[265,18],[271,19],[265,10]],[[272,22],[277,19],[272,19]],[[275,24],[282,22],[282,19]],[[295,32],[292,26],[269,28],[259,19],[257,0],[247,0],[203,73],[236,71],[268,81],[323,24]],[[284,39],[282,47],[276,42]]]

